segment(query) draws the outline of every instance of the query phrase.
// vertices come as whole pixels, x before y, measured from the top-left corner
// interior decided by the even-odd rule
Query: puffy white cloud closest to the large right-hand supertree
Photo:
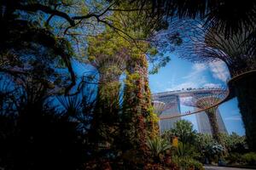
[[[230,77],[230,72],[221,60],[212,62],[209,64],[210,71],[212,71],[212,76],[222,82],[226,82],[228,77]]]

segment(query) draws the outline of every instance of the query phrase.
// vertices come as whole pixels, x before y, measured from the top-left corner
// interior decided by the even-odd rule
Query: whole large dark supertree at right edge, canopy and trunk
[[[256,90],[255,90],[255,39],[253,29],[242,28],[240,34],[226,38],[224,32],[211,27],[192,24],[189,41],[183,43],[181,58],[193,62],[222,60],[230,71],[230,94],[236,94],[246,129],[247,142],[256,150]]]

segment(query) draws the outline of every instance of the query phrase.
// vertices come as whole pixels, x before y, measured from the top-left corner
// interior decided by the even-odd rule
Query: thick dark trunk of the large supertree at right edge
[[[248,74],[232,82],[250,150],[256,150],[256,75]]]

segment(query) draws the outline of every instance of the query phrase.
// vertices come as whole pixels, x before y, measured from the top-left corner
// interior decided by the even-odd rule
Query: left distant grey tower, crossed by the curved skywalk
[[[154,100],[158,100],[166,104],[161,115],[170,115],[170,116],[181,115],[180,101],[179,101],[178,95],[166,94],[166,95],[154,96]],[[172,119],[160,120],[160,132],[163,133],[164,131],[173,128],[175,122],[177,122],[180,119],[181,119],[180,117],[177,117]]]

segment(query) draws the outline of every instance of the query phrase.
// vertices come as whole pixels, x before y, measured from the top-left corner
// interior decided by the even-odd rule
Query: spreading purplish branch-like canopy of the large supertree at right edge
[[[210,27],[201,26],[201,23],[191,23],[191,32],[187,35],[189,41],[183,43],[180,56],[192,62],[212,62],[222,60],[228,66],[231,77],[241,70],[255,70],[256,60],[253,47],[250,45],[253,38],[248,39],[251,31],[243,29],[226,39],[224,33]]]

